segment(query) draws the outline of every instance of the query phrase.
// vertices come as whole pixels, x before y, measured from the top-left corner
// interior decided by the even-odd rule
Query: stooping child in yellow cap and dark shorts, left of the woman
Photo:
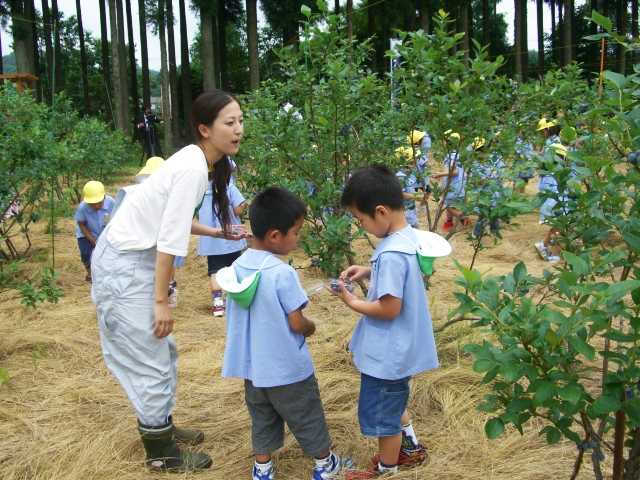
[[[87,271],[85,280],[91,281],[91,254],[98,237],[104,230],[113,211],[114,200],[104,193],[101,182],[91,180],[82,188],[82,202],[75,214],[76,238],[80,250],[80,259]]]

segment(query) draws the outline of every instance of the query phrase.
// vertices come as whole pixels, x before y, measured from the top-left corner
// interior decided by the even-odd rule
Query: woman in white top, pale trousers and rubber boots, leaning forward
[[[205,92],[193,104],[192,126],[196,144],[176,152],[127,195],[92,258],[105,364],[138,415],[147,465],[173,472],[211,466],[207,454],[176,445],[201,443],[204,435],[175,427],[171,417],[177,352],[167,285],[173,260],[187,254],[190,233],[244,236],[230,234],[227,197],[229,155],[238,152],[243,134],[240,105],[226,92]],[[219,229],[194,221],[210,176]]]

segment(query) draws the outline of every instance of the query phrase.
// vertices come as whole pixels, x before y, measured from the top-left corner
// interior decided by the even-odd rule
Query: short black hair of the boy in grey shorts
[[[256,195],[249,207],[251,233],[259,239],[273,229],[286,235],[306,212],[304,202],[289,190],[269,187]]]

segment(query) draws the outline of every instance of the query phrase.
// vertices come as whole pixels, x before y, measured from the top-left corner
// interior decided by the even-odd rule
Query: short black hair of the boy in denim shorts
[[[342,206],[356,207],[373,217],[378,205],[391,210],[403,209],[402,186],[384,165],[356,170],[342,192]]]

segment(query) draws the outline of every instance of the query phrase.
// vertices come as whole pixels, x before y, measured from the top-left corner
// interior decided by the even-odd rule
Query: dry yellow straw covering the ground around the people
[[[504,240],[481,253],[478,266],[494,273],[508,271],[524,260],[533,271],[545,266],[532,243],[542,229],[537,217],[519,219],[505,230]],[[44,223],[44,222],[43,222]],[[37,227],[42,228],[42,224]],[[127,399],[102,361],[89,286],[79,261],[72,220],[61,222],[56,263],[65,296],[57,305],[38,311],[23,308],[15,293],[0,296],[0,365],[11,380],[0,387],[0,478],[4,480],[133,480],[164,478],[142,466],[143,450],[135,417]],[[366,245],[365,242],[363,242]],[[453,305],[453,259],[470,260],[463,235],[453,240],[454,254],[440,261],[430,291],[434,323],[446,321]],[[192,250],[195,246],[192,245]],[[38,232],[33,271],[46,258],[47,237]],[[368,246],[358,252],[361,260]],[[308,261],[295,252],[296,266]],[[30,264],[31,265],[31,264]],[[317,272],[301,269],[306,286],[321,280]],[[224,322],[208,312],[206,261],[191,254],[178,273],[179,308],[175,311],[180,352],[180,381],[175,418],[206,433],[203,450],[214,466],[200,479],[246,479],[252,463],[250,422],[242,382],[220,376],[225,341]],[[309,341],[320,382],[329,427],[339,452],[365,465],[374,443],[358,429],[358,372],[345,346],[357,316],[330,295],[321,293],[307,309],[318,323]],[[547,446],[532,425],[524,436],[516,431],[496,441],[485,438],[485,415],[475,407],[485,389],[470,367],[462,346],[485,333],[458,325],[438,335],[441,368],[419,375],[412,383],[410,410],[430,461],[401,472],[397,479],[568,479],[575,447]],[[276,457],[278,478],[309,478],[311,460],[291,435]],[[580,478],[592,478],[585,465]],[[177,476],[180,478],[180,476]],[[195,478],[195,476],[185,475]],[[175,477],[173,477],[175,478]]]

